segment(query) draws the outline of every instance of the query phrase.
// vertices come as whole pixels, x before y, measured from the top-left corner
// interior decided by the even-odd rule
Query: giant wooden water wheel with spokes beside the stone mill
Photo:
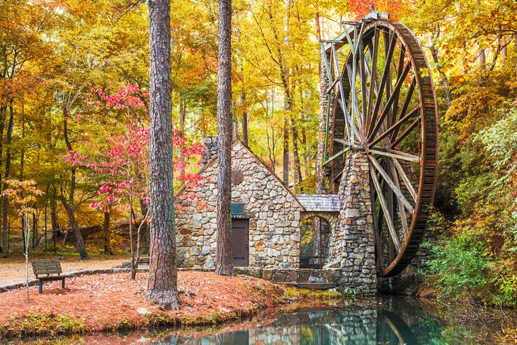
[[[408,28],[371,17],[346,24],[345,33],[322,43],[328,94],[337,94],[327,107],[324,165],[336,192],[350,168],[347,157],[367,155],[377,274],[390,277],[419,249],[433,203],[436,96],[424,52]]]

